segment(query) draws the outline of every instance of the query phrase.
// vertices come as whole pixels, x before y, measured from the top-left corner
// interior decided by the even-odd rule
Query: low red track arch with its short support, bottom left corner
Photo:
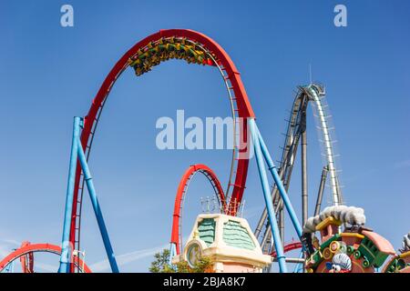
[[[61,247],[51,244],[30,244],[23,243],[21,247],[17,248],[13,253],[5,256],[5,258],[0,262],[0,272],[2,272],[5,267],[15,261],[17,258],[21,259],[24,273],[33,273],[34,269],[34,259],[33,253],[51,253],[58,256],[61,255]],[[31,256],[29,262],[26,262],[26,255]],[[26,264],[27,263],[27,264]],[[27,266],[28,265],[28,266]],[[83,262],[79,257],[76,259],[76,267],[84,273],[91,273],[91,269]],[[83,270],[84,267],[84,270]]]

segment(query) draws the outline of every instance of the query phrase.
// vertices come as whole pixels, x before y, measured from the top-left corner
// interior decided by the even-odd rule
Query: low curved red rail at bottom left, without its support
[[[12,263],[17,258],[36,252],[52,253],[60,256],[61,247],[51,244],[24,244],[21,247],[17,248],[13,253],[5,256],[5,258],[0,262],[0,272],[3,271],[5,266]],[[84,273],[91,273],[91,269],[83,262],[81,258],[78,257],[76,261],[78,262],[78,266],[80,268],[81,266],[84,266]],[[31,269],[33,270],[33,268]]]

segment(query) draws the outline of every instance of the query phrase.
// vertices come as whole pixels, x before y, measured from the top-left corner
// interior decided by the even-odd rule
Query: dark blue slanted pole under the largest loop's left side
[[[114,255],[114,250],[112,249],[111,242],[109,241],[107,227],[106,227],[106,224],[104,223],[104,218],[102,216],[101,208],[99,207],[99,204],[98,204],[96,189],[94,188],[92,176],[91,176],[91,173],[89,172],[89,168],[87,165],[87,158],[86,158],[86,155],[84,155],[83,148],[79,143],[80,141],[78,139],[78,158],[79,158],[81,167],[83,169],[84,179],[86,180],[88,194],[91,199],[91,204],[94,208],[94,213],[96,214],[96,217],[97,217],[99,232],[101,233],[104,246],[106,248],[109,265],[111,266],[111,270],[113,273],[119,273],[116,257]]]

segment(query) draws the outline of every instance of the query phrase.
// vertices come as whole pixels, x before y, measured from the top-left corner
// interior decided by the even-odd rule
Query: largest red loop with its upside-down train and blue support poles
[[[220,45],[215,43],[208,36],[191,30],[170,29],[159,31],[159,33],[154,35],[149,35],[128,50],[128,52],[123,55],[114,66],[103,85],[98,90],[97,96],[94,98],[87,116],[84,119],[79,117],[75,118],[67,186],[62,255],[59,268],[60,272],[74,271],[75,264],[70,262],[70,254],[73,251],[73,247],[74,249],[79,249],[81,205],[85,183],[87,184],[88,193],[90,194],[92,205],[97,216],[98,226],[108,254],[108,261],[112,271],[118,272],[117,262],[109,242],[108,232],[97,202],[97,195],[87,166],[87,158],[90,153],[89,150],[97,129],[97,123],[102,108],[104,107],[109,91],[118,79],[118,76],[128,66],[132,66],[135,69],[136,75],[144,74],[148,72],[153,65],[159,65],[160,62],[171,58],[184,59],[189,63],[198,65],[215,65],[219,68],[225,85],[227,85],[231,109],[233,109],[232,113],[234,114],[234,117],[236,117],[237,114],[238,117],[241,118],[238,119],[243,120],[242,123],[238,123],[240,125],[238,126],[236,122],[237,119],[235,118],[234,134],[236,135],[236,131],[238,131],[241,144],[235,145],[233,150],[230,176],[232,178],[233,173],[235,173],[236,176],[234,181],[230,181],[227,187],[228,194],[225,196],[229,196],[229,192],[232,189],[230,201],[227,203],[228,205],[232,205],[233,201],[236,203],[241,202],[248,171],[249,151],[251,149],[251,146],[247,145],[247,143],[248,140],[251,140],[259,167],[262,190],[273,229],[274,241],[277,245],[275,245],[275,249],[278,253],[279,264],[281,269],[286,269],[284,256],[282,256],[282,246],[278,243],[280,242],[279,230],[274,215],[272,199],[270,198],[269,183],[263,160],[265,160],[269,166],[269,171],[279,188],[284,206],[290,212],[292,223],[297,229],[298,236],[302,236],[302,226],[299,224],[289,197],[282,186],[282,181],[277,173],[276,167],[273,165],[272,157],[270,156],[257,128],[251,104],[241,82],[241,76],[235,65],[233,65],[229,55],[226,54]],[[79,135],[80,126],[82,127],[81,136]],[[248,135],[248,131],[251,134],[250,136]],[[237,161],[237,163],[234,161]],[[222,203],[225,202],[223,201]],[[228,206],[228,209],[231,209],[229,215],[234,216],[237,209],[232,209],[230,206]],[[174,248],[172,247],[171,249]]]

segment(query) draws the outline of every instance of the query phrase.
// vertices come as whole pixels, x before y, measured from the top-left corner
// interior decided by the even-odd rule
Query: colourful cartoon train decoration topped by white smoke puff
[[[347,206],[327,207],[309,218],[303,229],[306,271],[374,273],[388,256],[395,256],[393,246],[364,223],[364,210]],[[320,232],[320,243],[315,231]]]

